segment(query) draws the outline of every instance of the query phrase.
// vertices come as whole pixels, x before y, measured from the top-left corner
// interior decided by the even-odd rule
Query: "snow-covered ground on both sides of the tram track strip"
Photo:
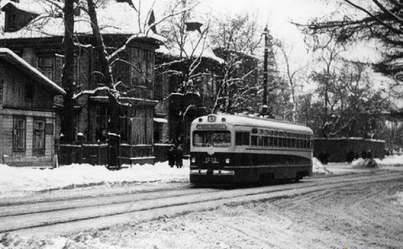
[[[376,161],[381,168],[402,166],[403,156]],[[359,163],[362,159],[353,164],[323,166],[314,159],[313,171],[314,175],[362,171],[354,168]],[[167,162],[163,162],[154,166],[128,166],[118,171],[90,165],[54,169],[0,165],[0,202],[3,197],[46,189],[119,186],[127,182],[157,185],[189,182],[189,161],[184,161],[183,168],[170,168]],[[0,249],[398,248],[393,245],[401,241],[398,235],[401,221],[396,220],[393,226],[390,221],[399,217],[400,209],[396,205],[403,206],[403,191],[396,191],[401,189],[398,182],[390,182],[391,186],[387,184],[389,182],[383,183],[385,186],[376,186],[375,197],[372,191],[368,191],[371,185],[353,186],[351,189],[354,191],[345,194],[349,193],[347,186],[344,191],[325,190],[271,202],[224,205],[178,217],[164,216],[143,224],[122,224],[106,230],[77,230],[75,234],[58,237],[30,238],[6,233],[0,237]],[[394,191],[389,191],[389,187]],[[367,213],[371,213],[371,217],[368,218]],[[374,224],[379,228],[374,229]],[[384,229],[387,229],[386,236]],[[380,245],[391,246],[376,247],[377,244],[374,244],[373,247],[365,247],[372,243],[368,242],[368,237]]]

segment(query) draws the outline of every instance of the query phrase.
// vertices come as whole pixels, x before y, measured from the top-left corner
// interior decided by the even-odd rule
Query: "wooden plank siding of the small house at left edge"
[[[0,156],[10,166],[53,166],[55,113],[53,94],[14,65],[0,60]],[[25,117],[25,149],[13,151],[13,119]],[[33,156],[33,120],[42,118],[53,130],[45,133],[45,154]]]

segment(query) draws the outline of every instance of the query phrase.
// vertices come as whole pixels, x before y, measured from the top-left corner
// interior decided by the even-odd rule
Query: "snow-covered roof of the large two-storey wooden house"
[[[28,25],[15,32],[5,32],[0,34],[0,40],[6,39],[32,39],[46,38],[54,36],[64,36],[64,20],[63,20],[63,3],[51,2],[51,0],[24,0],[24,4],[16,4],[9,0],[0,4],[1,10],[7,4],[13,4],[16,8],[30,13],[38,13],[40,3],[42,12],[38,17],[31,21]],[[32,5],[32,9],[30,8]],[[35,5],[36,3],[37,5]],[[117,2],[116,0],[99,1],[97,6],[98,24],[101,34],[104,35],[137,35],[142,39],[151,39],[157,43],[164,42],[165,38],[153,33],[152,31],[144,32],[147,27],[140,27],[138,21],[138,12],[132,8],[127,2]],[[48,5],[46,7],[46,4]],[[56,7],[55,4],[60,5]],[[90,35],[92,28],[89,16],[85,11],[81,11],[80,16],[75,16],[74,33],[76,35]]]

